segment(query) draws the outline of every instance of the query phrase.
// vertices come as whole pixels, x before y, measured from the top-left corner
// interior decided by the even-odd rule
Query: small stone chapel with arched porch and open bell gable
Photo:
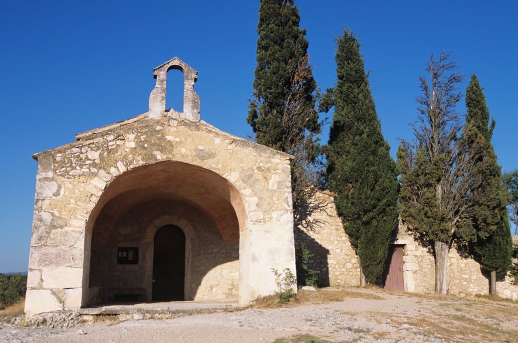
[[[166,111],[167,72],[184,76]],[[25,311],[113,301],[238,300],[295,271],[290,156],[199,118],[197,72],[156,67],[149,112],[38,161]]]

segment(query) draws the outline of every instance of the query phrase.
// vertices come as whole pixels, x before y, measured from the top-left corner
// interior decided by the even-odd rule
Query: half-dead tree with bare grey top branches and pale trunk
[[[450,53],[434,55],[426,65],[429,82],[420,77],[422,95],[418,119],[411,125],[412,143],[402,141],[398,153],[401,168],[402,219],[433,247],[435,291],[447,292],[448,252],[455,238],[467,237],[472,230],[470,208],[473,189],[483,182],[472,175],[473,154],[459,135],[462,123],[455,110],[462,99],[458,84],[464,76]]]

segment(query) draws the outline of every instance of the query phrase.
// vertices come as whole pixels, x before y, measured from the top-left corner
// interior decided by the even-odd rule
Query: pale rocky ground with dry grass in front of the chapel
[[[81,323],[74,314],[53,315],[33,319],[32,325],[45,322],[43,327],[0,323],[0,342],[253,343],[300,334],[331,342],[518,341],[516,303],[375,289],[350,289],[343,294],[343,300],[322,304],[163,320],[113,321],[111,317]]]

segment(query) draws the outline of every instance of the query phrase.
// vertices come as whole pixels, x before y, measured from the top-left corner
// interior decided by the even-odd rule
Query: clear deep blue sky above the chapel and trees
[[[352,28],[384,137],[411,139],[418,78],[430,53],[453,51],[476,73],[496,120],[503,170],[518,168],[518,3],[296,1],[323,90],[336,79],[335,38]],[[0,272],[26,271],[37,162],[74,135],[147,112],[153,68],[174,56],[198,71],[202,120],[247,138],[258,1],[0,0]],[[168,73],[167,108],[181,108],[181,73]],[[465,112],[464,100],[458,107]],[[330,116],[330,114],[329,114]],[[328,132],[328,127],[324,130]],[[323,137],[325,142],[327,137]]]

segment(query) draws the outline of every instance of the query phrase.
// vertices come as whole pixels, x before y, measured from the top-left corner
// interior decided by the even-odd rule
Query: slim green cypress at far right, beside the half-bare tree
[[[506,274],[511,265],[512,238],[507,216],[506,193],[501,183],[501,170],[491,144],[495,120],[489,123],[484,93],[477,76],[471,75],[466,88],[466,126],[464,142],[473,155],[473,175],[484,180],[471,189],[474,198],[472,220],[476,251],[482,268],[491,272],[491,294],[496,294],[496,276]],[[477,174],[477,175],[474,175]]]

